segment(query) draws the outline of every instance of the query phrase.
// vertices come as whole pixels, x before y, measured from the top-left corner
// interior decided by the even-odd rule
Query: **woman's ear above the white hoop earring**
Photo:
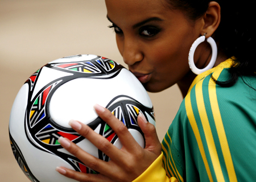
[[[202,29],[201,35],[205,35],[206,38],[209,38],[213,35],[220,24],[220,15],[221,7],[220,5],[215,2],[211,1],[209,3],[209,7],[204,15],[204,27]]]

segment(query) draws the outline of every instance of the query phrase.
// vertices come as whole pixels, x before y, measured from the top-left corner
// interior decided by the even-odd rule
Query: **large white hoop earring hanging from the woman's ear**
[[[192,44],[192,46],[190,48],[190,51],[189,51],[189,54],[188,54],[189,68],[196,75],[199,75],[200,73],[203,73],[203,72],[211,69],[213,67],[213,65],[215,64],[216,59],[217,59],[217,45],[216,45],[216,42],[214,41],[213,38],[209,37],[207,39],[207,42],[212,47],[212,58],[210,59],[210,63],[207,65],[207,67],[205,67],[203,69],[196,68],[196,65],[194,63],[194,53],[196,51],[197,46],[200,43],[204,42],[204,40],[205,40],[205,35],[200,36],[200,38],[196,39],[196,41]]]

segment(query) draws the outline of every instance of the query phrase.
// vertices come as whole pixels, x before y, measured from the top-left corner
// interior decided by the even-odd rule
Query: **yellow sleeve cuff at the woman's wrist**
[[[133,182],[142,182],[142,181],[157,181],[157,182],[177,182],[178,180],[175,177],[169,177],[166,175],[166,171],[163,168],[163,152],[159,157],[144,171],[137,179]]]

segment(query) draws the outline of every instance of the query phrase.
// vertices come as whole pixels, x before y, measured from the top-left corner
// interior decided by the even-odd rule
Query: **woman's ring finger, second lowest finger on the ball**
[[[109,171],[108,162],[88,154],[69,139],[60,137],[58,142],[61,144],[61,146],[63,146],[63,148],[65,148],[65,150],[80,159],[81,162],[85,164],[85,166],[88,166],[89,168],[104,174],[106,171]]]

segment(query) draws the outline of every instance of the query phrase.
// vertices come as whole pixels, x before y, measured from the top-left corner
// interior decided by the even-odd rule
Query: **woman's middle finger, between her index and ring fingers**
[[[74,120],[69,121],[69,125],[71,125],[71,127],[76,130],[77,133],[88,139],[99,150],[108,155],[109,158],[113,158],[113,160],[116,162],[122,161],[124,157],[122,152],[112,143],[110,143],[108,139],[102,137],[100,134],[97,134],[89,126]]]

